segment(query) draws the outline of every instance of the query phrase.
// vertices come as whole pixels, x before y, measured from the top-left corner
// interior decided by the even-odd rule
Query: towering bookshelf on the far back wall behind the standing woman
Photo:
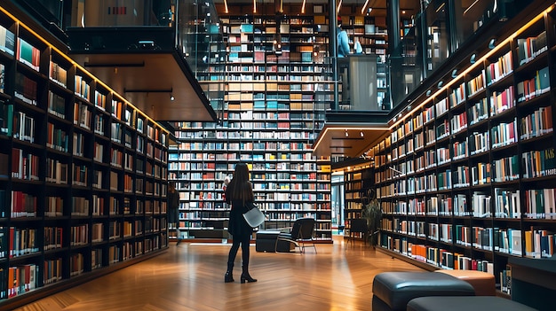
[[[319,32],[312,16],[220,18],[226,65],[209,65],[199,80],[204,89],[224,82],[222,122],[177,123],[179,144],[171,150],[182,237],[228,237],[222,184],[242,161],[267,214],[263,228],[314,217],[316,237],[331,242],[330,160],[311,154],[333,100],[323,78],[330,74],[328,32]]]

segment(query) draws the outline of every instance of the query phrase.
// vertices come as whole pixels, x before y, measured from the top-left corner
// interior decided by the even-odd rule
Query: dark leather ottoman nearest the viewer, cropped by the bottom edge
[[[420,297],[411,299],[407,311],[534,311],[536,309],[502,297]],[[374,310],[373,310],[374,311]]]

